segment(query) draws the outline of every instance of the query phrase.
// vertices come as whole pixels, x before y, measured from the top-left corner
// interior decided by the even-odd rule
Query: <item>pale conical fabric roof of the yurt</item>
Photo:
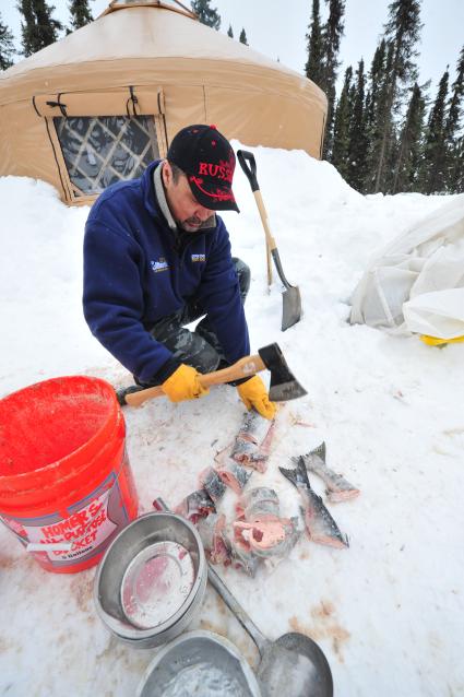
[[[176,60],[172,60],[176,59]],[[136,75],[136,84],[153,82],[156,74],[201,82],[211,73],[221,83],[230,78],[234,64],[240,73],[251,76],[267,72],[292,83],[308,80],[282,63],[266,58],[192,19],[178,3],[166,2],[112,3],[97,20],[50,46],[16,63],[0,74],[0,104],[27,98],[31,92],[50,93],[105,85],[111,87],[127,82],[127,74]],[[148,74],[150,72],[150,74]],[[289,86],[289,85],[288,85]],[[325,96],[320,99],[325,103]]]

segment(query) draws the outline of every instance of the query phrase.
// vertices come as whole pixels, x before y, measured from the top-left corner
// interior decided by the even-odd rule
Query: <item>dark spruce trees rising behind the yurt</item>
[[[370,63],[360,57],[357,66],[338,75],[347,1],[323,0],[323,22],[320,0],[312,0],[306,35],[305,74],[329,101],[323,157],[361,193],[463,191],[464,46],[453,82],[450,67],[443,66],[437,93],[430,94],[430,81],[418,82],[416,62],[420,0],[393,0]],[[201,22],[219,31],[221,16],[211,0],[193,0],[191,7]],[[56,42],[60,32],[93,21],[88,0],[70,2],[70,27],[53,19],[55,8],[46,0],[19,0],[17,9],[25,57]],[[230,25],[227,34],[234,37]],[[0,14],[0,70],[14,62],[13,39]],[[248,45],[245,28],[239,40]]]

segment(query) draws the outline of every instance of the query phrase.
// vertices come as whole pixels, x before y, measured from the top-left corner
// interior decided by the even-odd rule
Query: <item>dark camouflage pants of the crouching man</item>
[[[237,257],[233,257],[233,262],[238,275],[241,302],[245,303],[250,288],[250,269]],[[158,320],[150,333],[182,363],[192,366],[199,373],[212,373],[221,362],[225,363],[225,358],[207,315],[197,324],[194,331],[185,327],[203,315],[204,310],[193,299],[178,312]]]

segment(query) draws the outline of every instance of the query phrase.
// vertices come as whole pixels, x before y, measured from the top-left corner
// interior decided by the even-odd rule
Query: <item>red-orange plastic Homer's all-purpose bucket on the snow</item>
[[[39,550],[31,554],[40,566],[87,569],[136,515],[124,420],[108,382],[55,378],[0,400],[0,518]]]

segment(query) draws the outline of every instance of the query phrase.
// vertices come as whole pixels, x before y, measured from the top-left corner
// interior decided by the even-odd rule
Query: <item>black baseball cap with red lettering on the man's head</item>
[[[212,211],[237,211],[231,182],[235,153],[215,126],[182,128],[172,139],[167,160],[186,175],[197,201]]]

